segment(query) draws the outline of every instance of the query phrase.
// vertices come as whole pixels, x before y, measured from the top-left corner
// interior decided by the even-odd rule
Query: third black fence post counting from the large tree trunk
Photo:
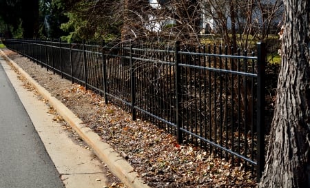
[[[134,61],[132,59],[132,41],[130,41],[130,80],[131,80],[131,89],[132,89],[132,120],[136,120],[136,108],[134,107],[136,105],[136,77],[135,77],[135,71],[134,71]]]

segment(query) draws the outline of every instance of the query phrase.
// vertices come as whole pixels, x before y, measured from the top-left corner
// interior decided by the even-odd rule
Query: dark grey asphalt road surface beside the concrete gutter
[[[58,188],[63,182],[0,63],[0,188],[15,187]]]

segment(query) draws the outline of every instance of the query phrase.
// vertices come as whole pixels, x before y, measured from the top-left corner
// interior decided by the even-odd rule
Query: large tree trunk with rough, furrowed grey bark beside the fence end
[[[276,109],[259,187],[310,187],[310,1],[284,3]]]

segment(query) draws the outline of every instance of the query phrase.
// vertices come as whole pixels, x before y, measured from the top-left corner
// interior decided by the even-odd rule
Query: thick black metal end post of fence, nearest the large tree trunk
[[[265,167],[265,43],[257,43],[257,180],[260,181]]]

